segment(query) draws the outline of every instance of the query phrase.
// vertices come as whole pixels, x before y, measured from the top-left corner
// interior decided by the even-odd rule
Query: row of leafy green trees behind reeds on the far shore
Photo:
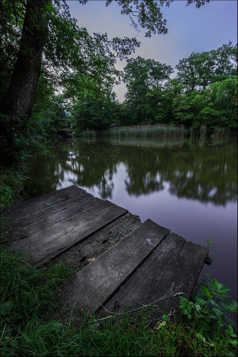
[[[80,130],[101,131],[112,126],[183,125],[193,134],[207,127],[237,131],[237,45],[223,44],[217,50],[192,53],[171,66],[153,59],[127,60],[122,73],[125,101],[120,104],[112,88],[94,82],[94,90],[82,86],[70,98],[71,122]],[[120,79],[120,78],[119,78]],[[78,88],[79,89],[79,86]],[[91,89],[91,88],[90,88]],[[72,101],[73,99],[73,101]]]

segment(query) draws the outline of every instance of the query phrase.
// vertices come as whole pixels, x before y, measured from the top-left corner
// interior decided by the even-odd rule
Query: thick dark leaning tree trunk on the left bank
[[[32,112],[47,37],[47,12],[49,12],[50,4],[51,0],[27,0],[26,2],[17,60],[1,107],[1,113],[10,117],[10,121],[4,120],[4,117],[1,120],[1,165],[11,164],[13,128],[16,121],[19,124],[18,120],[20,120],[20,130],[24,131],[26,128],[24,116],[30,116]]]

